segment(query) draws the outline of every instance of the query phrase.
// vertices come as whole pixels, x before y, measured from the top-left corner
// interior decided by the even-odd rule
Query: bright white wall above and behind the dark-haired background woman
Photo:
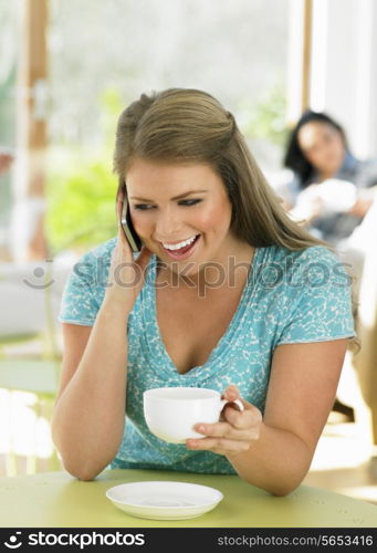
[[[377,157],[377,2],[313,0],[311,107],[344,127],[360,158]]]

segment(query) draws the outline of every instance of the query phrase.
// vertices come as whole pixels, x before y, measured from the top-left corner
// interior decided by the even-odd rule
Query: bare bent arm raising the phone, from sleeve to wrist
[[[64,355],[52,438],[65,469],[82,480],[101,472],[122,440],[126,327],[125,314],[108,305],[100,310],[93,328],[63,324]]]

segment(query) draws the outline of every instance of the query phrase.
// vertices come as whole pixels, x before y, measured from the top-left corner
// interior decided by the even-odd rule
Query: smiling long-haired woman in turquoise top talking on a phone
[[[133,255],[119,226],[67,282],[52,422],[66,470],[238,473],[290,493],[354,336],[346,273],[286,216],[233,116],[205,92],[171,88],[126,108],[115,170],[118,216],[126,188],[144,247]],[[167,444],[143,415],[143,392],[161,386],[217,389],[244,410],[229,406],[196,427],[203,438]]]

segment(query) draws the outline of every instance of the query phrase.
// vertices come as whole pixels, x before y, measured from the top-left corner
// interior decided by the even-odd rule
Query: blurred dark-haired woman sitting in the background
[[[306,219],[312,233],[342,248],[371,206],[377,160],[356,159],[342,126],[325,113],[308,109],[292,129],[284,166],[294,173],[285,194],[280,190],[285,207]],[[334,187],[334,179],[328,206],[326,189]]]

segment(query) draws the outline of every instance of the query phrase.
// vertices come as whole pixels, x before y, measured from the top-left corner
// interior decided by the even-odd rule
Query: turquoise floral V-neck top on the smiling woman
[[[92,326],[101,307],[117,238],[85,253],[65,284],[59,321]],[[127,407],[124,437],[111,468],[234,473],[226,457],[167,444],[149,432],[143,393],[163,386],[198,386],[220,393],[229,384],[264,410],[272,355],[280,344],[355,336],[350,279],[323,247],[255,251],[248,282],[224,335],[207,362],[178,373],[161,340],[156,317],[157,259],[128,317]],[[300,367],[297,366],[297,371]],[[106,367],[104,367],[106,378]]]

